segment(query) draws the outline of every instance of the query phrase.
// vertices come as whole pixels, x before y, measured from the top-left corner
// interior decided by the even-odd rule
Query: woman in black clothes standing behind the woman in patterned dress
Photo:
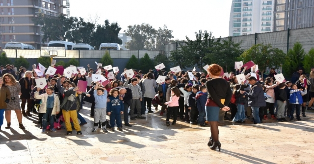
[[[31,71],[26,71],[24,74],[24,77],[20,79],[19,83],[21,85],[21,100],[22,100],[22,114],[23,116],[31,116],[30,110],[31,110],[31,104],[32,99],[30,99],[30,93],[33,90],[34,86],[36,86],[35,79],[32,77],[33,74]],[[27,109],[25,112],[25,105],[27,101]]]

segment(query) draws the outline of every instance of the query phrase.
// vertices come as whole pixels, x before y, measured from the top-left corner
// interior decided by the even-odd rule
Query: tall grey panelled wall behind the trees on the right
[[[224,40],[227,38],[221,39]],[[249,49],[252,45],[259,43],[271,44],[272,47],[279,48],[285,53],[287,53],[287,50],[292,48],[296,42],[300,42],[305,52],[309,52],[311,48],[314,48],[314,27],[235,36],[232,37],[232,41],[235,43],[242,41],[240,45],[242,49]],[[164,53],[170,56],[170,52],[180,48],[180,44],[182,46],[186,45],[184,42],[165,45]]]

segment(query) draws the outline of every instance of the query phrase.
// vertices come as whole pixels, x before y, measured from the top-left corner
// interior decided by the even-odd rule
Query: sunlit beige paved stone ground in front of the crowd
[[[66,130],[41,134],[37,116],[24,117],[18,128],[12,113],[12,128],[0,131],[0,164],[311,164],[314,163],[314,113],[303,121],[263,124],[224,121],[219,127],[221,151],[207,146],[210,127],[178,121],[165,125],[157,112],[146,120],[131,121],[123,132],[92,133],[90,104],[82,110],[88,121],[83,135],[65,135]]]

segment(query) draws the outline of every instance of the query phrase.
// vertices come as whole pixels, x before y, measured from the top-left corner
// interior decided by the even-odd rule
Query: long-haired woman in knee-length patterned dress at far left
[[[21,95],[21,85],[16,82],[15,77],[12,74],[6,73],[3,75],[4,84],[7,86],[11,93],[11,98],[9,103],[7,103],[7,109],[5,110],[5,119],[7,122],[7,126],[5,129],[9,129],[11,127],[11,111],[15,111],[16,117],[19,121],[19,127],[21,129],[25,129],[22,123],[22,112],[20,106],[20,97]]]

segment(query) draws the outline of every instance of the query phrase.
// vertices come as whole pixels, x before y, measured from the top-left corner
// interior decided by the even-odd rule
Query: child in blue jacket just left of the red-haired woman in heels
[[[200,91],[196,93],[195,99],[198,110],[197,125],[205,126],[205,104],[207,101],[207,89],[205,86],[200,87]]]

